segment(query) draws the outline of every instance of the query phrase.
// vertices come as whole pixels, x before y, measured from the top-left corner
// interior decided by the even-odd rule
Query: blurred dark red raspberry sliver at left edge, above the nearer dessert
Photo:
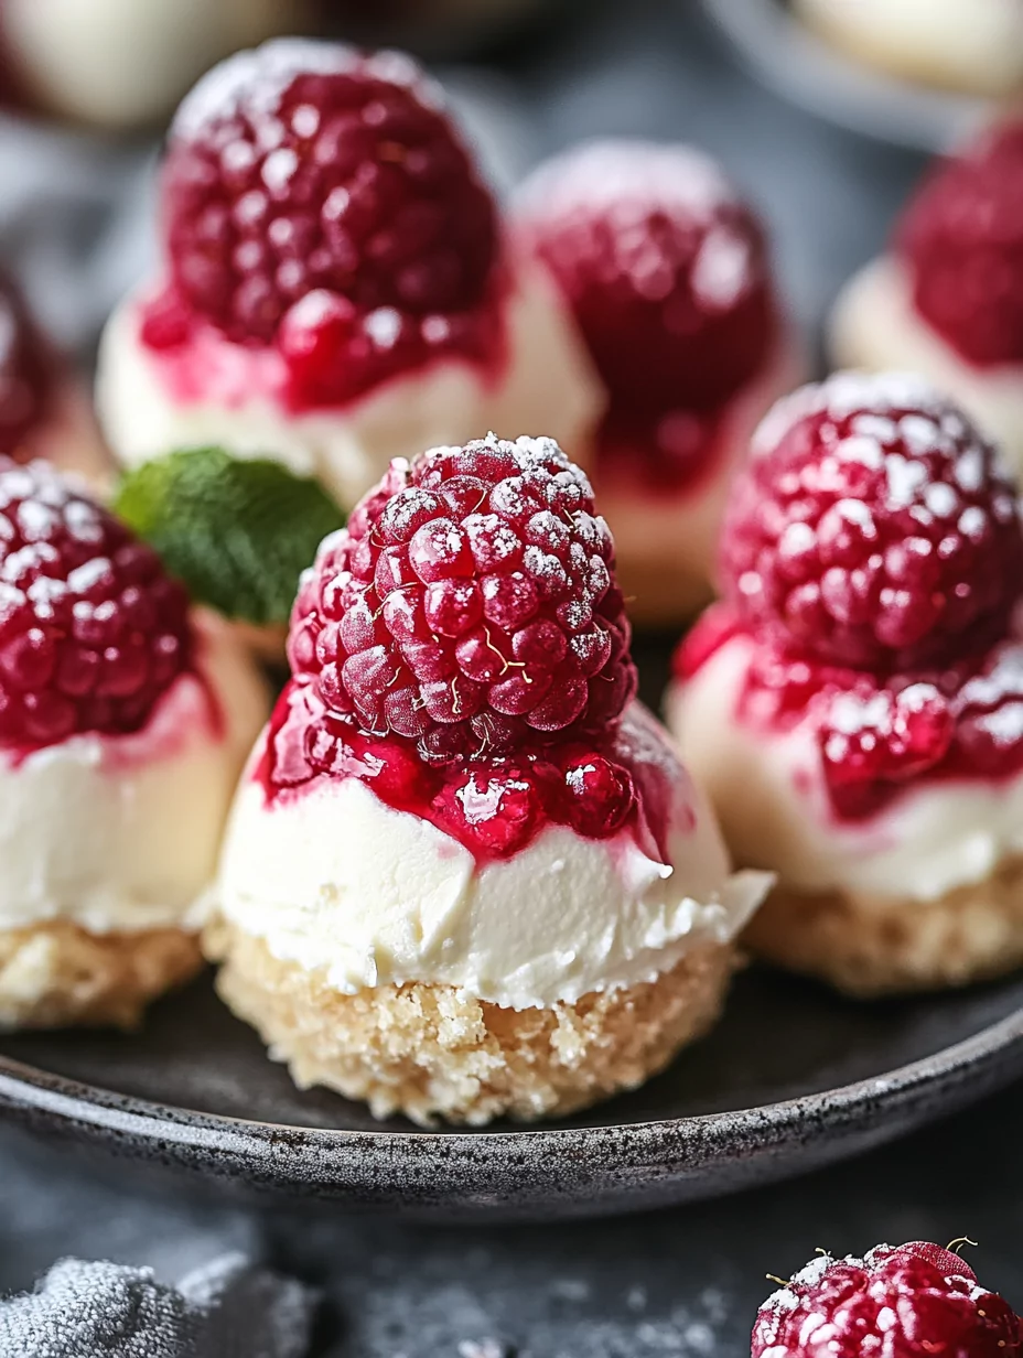
[[[0,274],[0,455],[24,460],[24,443],[50,414],[58,367],[24,300]]]

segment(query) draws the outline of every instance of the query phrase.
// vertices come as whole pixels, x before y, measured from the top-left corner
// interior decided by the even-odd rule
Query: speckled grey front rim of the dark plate
[[[363,1207],[395,1206],[394,1188],[387,1184],[386,1173],[380,1176],[382,1169],[402,1169],[413,1161],[421,1165],[427,1160],[435,1167],[435,1177],[425,1192],[418,1176],[401,1184],[413,1209],[417,1200],[420,1206],[423,1202],[429,1206],[439,1194],[466,1187],[456,1181],[459,1168],[471,1164],[484,1187],[469,1186],[462,1199],[452,1202],[455,1211],[478,1209],[480,1194],[486,1196],[488,1184],[492,1186],[492,1195],[486,1198],[486,1206],[492,1210],[515,1213],[520,1205],[528,1210],[530,1205],[535,1207],[542,1200],[545,1190],[558,1192],[552,1183],[552,1169],[538,1175],[538,1168],[546,1164],[556,1169],[564,1165],[560,1153],[584,1150],[603,1154],[605,1160],[610,1156],[611,1172],[615,1167],[622,1171],[645,1167],[652,1175],[645,1184],[626,1179],[610,1188],[598,1188],[595,1199],[599,1200],[590,1210],[614,1211],[651,1206],[649,1196],[641,1200],[644,1188],[656,1187],[659,1199],[655,1200],[666,1203],[681,1196],[727,1191],[728,1184],[712,1187],[709,1194],[700,1190],[672,1194],[671,1186],[678,1190],[693,1177],[694,1169],[716,1167],[724,1171],[730,1164],[730,1152],[738,1153],[746,1171],[750,1165],[755,1168],[768,1161],[762,1175],[747,1173],[732,1187],[766,1183],[772,1177],[797,1172],[800,1165],[793,1167],[788,1161],[799,1160],[797,1150],[807,1143],[811,1164],[841,1158],[856,1149],[856,1145],[852,1150],[846,1148],[850,1142],[856,1143],[857,1134],[868,1138],[865,1145],[893,1139],[931,1118],[993,1092],[1020,1070],[1023,1005],[951,1046],[880,1074],[774,1103],[679,1118],[499,1131],[303,1127],[160,1104],[45,1071],[4,1055],[0,1055],[0,1118],[27,1115],[43,1130],[69,1135],[77,1131],[109,1152],[126,1149],[141,1160],[162,1156],[164,1162],[175,1165],[181,1165],[178,1157],[183,1157],[187,1168],[202,1175],[231,1181],[240,1177],[249,1187],[270,1187],[277,1192],[308,1195],[311,1191],[336,1200],[348,1196]],[[951,1097],[941,1099],[943,1093]],[[928,1096],[933,1096],[931,1105]],[[860,1141],[860,1145],[864,1142]],[[701,1150],[694,1160],[675,1158],[664,1165],[668,1152],[692,1150],[694,1146]],[[814,1146],[821,1152],[816,1161],[812,1160]],[[287,1152],[284,1157],[274,1156],[281,1148]],[[509,1158],[509,1152],[523,1149],[526,1154],[518,1162],[514,1156]],[[304,1160],[317,1153],[319,1173],[310,1179],[300,1169]],[[231,1169],[227,1175],[219,1171],[217,1158],[224,1154],[240,1162],[240,1175]],[[266,1167],[268,1154],[274,1161],[269,1183],[253,1177],[259,1167]],[[658,1168],[660,1175],[655,1173]],[[330,1169],[344,1172],[338,1176],[327,1173]],[[586,1180],[581,1194],[579,1187],[569,1187],[568,1194],[561,1196],[561,1206],[587,1210],[584,1184]]]

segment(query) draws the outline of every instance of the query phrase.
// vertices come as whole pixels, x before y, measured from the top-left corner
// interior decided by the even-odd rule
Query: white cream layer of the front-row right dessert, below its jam
[[[1023,853],[1023,777],[908,788],[863,822],[840,820],[807,724],[772,735],[736,720],[751,642],[727,642],[670,698],[670,724],[739,862],[806,892],[936,900]]]

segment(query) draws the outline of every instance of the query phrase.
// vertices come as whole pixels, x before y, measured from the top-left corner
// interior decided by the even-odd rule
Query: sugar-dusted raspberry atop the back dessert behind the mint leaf
[[[352,308],[465,311],[497,250],[490,194],[420,69],[300,39],[231,57],[185,99],[163,228],[173,291],[249,342],[312,292],[341,327]]]

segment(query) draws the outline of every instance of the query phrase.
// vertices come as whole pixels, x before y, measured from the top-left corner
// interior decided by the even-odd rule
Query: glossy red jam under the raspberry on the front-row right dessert
[[[868,819],[910,786],[1023,773],[1023,640],[944,669],[884,678],[755,641],[719,606],[681,649],[678,672],[693,678],[736,637],[750,649],[731,716],[765,736],[808,725],[841,820]]]

